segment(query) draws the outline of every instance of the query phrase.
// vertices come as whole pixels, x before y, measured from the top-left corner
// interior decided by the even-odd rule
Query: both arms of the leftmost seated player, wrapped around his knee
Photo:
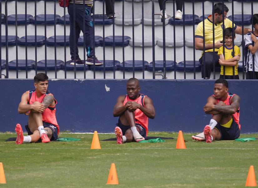
[[[28,92],[29,91],[26,91],[22,95],[21,102],[18,106],[18,113],[21,113],[21,114],[24,113],[25,115],[28,115],[27,114],[28,111],[32,111],[35,113],[39,113],[39,112],[42,113],[50,105],[51,106],[55,105],[54,96],[52,94],[49,94],[46,97],[44,97],[44,100],[42,103],[28,104],[28,95],[29,95]]]

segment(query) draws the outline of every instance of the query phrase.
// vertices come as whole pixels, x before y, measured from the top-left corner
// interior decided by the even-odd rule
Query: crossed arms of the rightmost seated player
[[[203,111],[206,114],[219,114],[219,113],[224,113],[224,114],[234,114],[240,104],[240,97],[238,95],[234,95],[231,98],[231,105],[226,105],[226,106],[220,106],[220,105],[215,105],[216,104],[216,98],[213,96],[208,97],[206,105],[203,107]]]

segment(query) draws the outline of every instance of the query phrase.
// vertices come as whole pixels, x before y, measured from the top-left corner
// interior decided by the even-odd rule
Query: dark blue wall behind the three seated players
[[[213,85],[214,80],[140,80],[140,92],[153,100],[156,111],[155,119],[149,119],[149,131],[202,131],[211,117],[203,106]],[[126,94],[125,86],[126,80],[49,80],[48,90],[58,101],[60,130],[113,132],[118,121],[113,107],[117,97]],[[34,89],[33,80],[2,79],[0,88],[0,132],[14,132],[16,123],[27,124],[28,117],[18,114],[17,108],[23,92]],[[241,97],[241,133],[257,133],[258,82],[229,81],[229,91]]]

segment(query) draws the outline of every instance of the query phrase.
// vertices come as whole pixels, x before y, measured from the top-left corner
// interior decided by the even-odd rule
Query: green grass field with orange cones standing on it
[[[258,140],[250,142],[192,141],[183,133],[186,149],[176,139],[164,143],[100,142],[90,149],[93,134],[66,134],[77,142],[22,144],[5,142],[15,134],[0,134],[0,162],[7,184],[0,187],[244,187],[250,165],[258,179]],[[177,133],[149,133],[177,138]],[[99,139],[114,134],[99,134]],[[258,137],[242,134],[240,138]],[[105,185],[115,163],[119,185]]]

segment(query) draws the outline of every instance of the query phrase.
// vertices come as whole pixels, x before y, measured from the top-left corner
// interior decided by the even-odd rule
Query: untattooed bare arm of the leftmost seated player
[[[45,110],[45,108],[44,108],[44,105],[40,103],[28,104],[28,91],[26,91],[25,93],[23,93],[21,102],[19,103],[18,113],[25,114],[30,110],[36,113],[38,112],[42,113]]]

